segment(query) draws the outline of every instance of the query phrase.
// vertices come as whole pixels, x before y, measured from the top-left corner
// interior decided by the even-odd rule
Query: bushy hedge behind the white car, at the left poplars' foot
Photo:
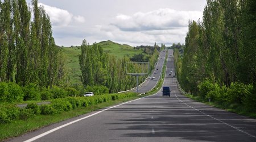
[[[77,97],[82,96],[86,91],[92,91],[96,95],[101,95],[108,93],[109,89],[105,86],[77,87],[77,89],[73,87],[65,87],[65,89],[63,89],[58,86],[52,86],[52,88],[49,89],[40,88],[35,83],[29,83],[22,87],[14,82],[0,82],[0,103]]]

